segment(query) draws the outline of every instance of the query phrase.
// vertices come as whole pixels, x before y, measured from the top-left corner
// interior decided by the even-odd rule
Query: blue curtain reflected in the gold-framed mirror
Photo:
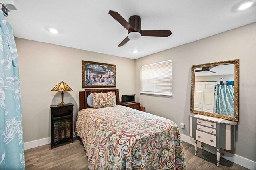
[[[234,86],[216,85],[213,112],[220,115],[234,116]]]

